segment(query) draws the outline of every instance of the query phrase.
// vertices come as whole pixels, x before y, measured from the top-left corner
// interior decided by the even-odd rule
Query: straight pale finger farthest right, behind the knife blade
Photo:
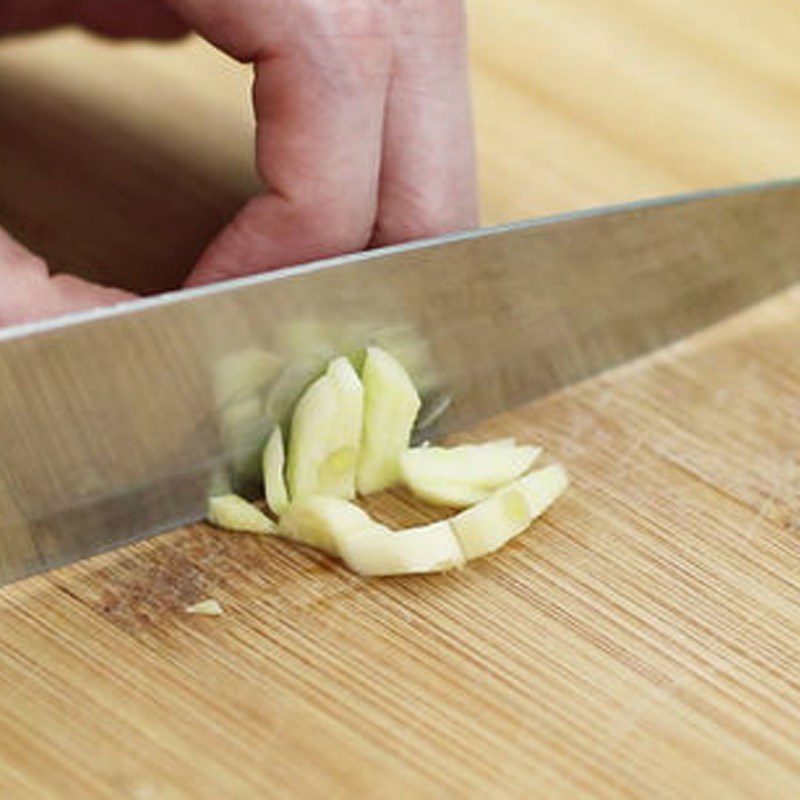
[[[461,0],[396,0],[373,244],[478,223],[466,15]]]

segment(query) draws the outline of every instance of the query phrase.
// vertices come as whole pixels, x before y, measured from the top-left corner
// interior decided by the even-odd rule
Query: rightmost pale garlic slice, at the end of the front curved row
[[[468,560],[499,550],[564,492],[569,478],[556,464],[532,472],[450,520]]]

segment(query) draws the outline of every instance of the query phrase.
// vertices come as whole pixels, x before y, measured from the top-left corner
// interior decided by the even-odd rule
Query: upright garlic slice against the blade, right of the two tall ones
[[[408,448],[421,401],[403,365],[379,347],[368,348],[361,380],[364,427],[357,488],[372,494],[400,479],[400,454]]]

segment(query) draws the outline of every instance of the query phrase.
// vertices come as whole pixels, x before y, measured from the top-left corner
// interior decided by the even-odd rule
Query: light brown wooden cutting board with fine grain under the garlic
[[[798,172],[791,4],[471,8],[487,221]],[[250,139],[195,42],[0,46],[0,221],[52,263],[174,280]],[[3,589],[0,797],[797,798],[798,341],[794,290],[464,432],[574,485],[463,571],[197,525]]]

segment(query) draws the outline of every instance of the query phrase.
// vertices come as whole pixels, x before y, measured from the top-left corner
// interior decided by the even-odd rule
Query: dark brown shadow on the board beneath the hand
[[[140,293],[180,285],[256,190],[23,70],[0,73],[0,227],[71,272]]]

